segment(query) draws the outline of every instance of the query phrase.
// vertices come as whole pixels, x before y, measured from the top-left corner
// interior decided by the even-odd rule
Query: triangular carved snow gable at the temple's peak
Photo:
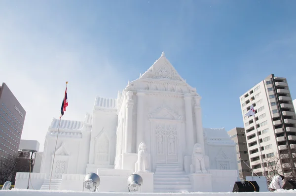
[[[185,80],[176,71],[174,66],[165,57],[164,52],[162,52],[161,57],[159,57],[159,59],[156,60],[156,62],[150,66],[148,70],[140,76],[140,78],[165,79],[185,82]]]

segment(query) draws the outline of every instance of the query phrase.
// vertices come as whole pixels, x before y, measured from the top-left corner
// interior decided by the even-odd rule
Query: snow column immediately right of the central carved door
[[[186,142],[187,153],[192,154],[194,146],[194,134],[193,134],[193,120],[192,120],[192,108],[191,108],[191,96],[190,94],[184,95],[185,100],[185,116],[186,116]]]

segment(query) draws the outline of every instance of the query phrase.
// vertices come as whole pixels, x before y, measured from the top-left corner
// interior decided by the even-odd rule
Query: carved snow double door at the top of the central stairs
[[[178,159],[178,132],[171,125],[163,125],[156,128],[155,140],[155,163],[177,164]]]

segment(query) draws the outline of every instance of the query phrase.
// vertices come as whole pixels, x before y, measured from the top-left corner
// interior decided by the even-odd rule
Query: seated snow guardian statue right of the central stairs
[[[204,162],[204,155],[202,154],[202,146],[194,144],[192,152],[192,163],[190,165],[191,173],[207,173]]]

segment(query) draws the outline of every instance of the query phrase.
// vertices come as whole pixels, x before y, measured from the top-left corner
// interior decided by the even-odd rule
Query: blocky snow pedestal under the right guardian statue
[[[212,174],[192,173],[189,178],[193,192],[212,192]]]

